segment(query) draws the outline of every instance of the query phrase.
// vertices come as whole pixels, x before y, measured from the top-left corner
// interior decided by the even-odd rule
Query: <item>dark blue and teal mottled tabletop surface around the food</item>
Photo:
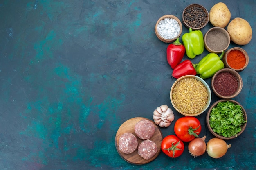
[[[182,19],[191,3],[209,11],[220,2],[168,0],[2,0],[0,2],[0,169],[252,169],[255,168],[255,0],[223,0],[231,19],[242,17],[253,30],[240,46],[249,54],[240,72],[243,89],[234,100],[245,107],[246,130],[227,154],[193,158],[160,153],[136,166],[115,148],[115,134],[126,120],[152,118],[167,104],[172,69],[168,44],[154,27],[162,15]],[[211,28],[209,23],[201,31]],[[188,32],[183,27],[182,35]],[[231,43],[229,48],[238,46]],[[197,63],[207,50],[192,62]],[[188,59],[186,55],[184,59]],[[211,79],[206,80],[210,85]],[[211,103],[218,100],[214,94]],[[182,115],[175,113],[175,120]],[[202,123],[206,142],[213,137]],[[174,121],[175,122],[175,121]],[[174,134],[173,124],[162,128]]]

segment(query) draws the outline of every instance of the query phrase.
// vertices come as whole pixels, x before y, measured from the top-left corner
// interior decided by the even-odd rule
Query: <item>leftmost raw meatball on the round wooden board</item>
[[[132,133],[124,133],[119,138],[118,146],[122,153],[133,153],[138,147],[138,140]]]

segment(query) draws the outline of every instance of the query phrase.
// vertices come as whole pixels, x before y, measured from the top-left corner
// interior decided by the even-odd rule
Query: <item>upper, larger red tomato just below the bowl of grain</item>
[[[198,137],[201,129],[199,120],[191,116],[179,118],[174,124],[174,133],[184,142],[189,142]]]

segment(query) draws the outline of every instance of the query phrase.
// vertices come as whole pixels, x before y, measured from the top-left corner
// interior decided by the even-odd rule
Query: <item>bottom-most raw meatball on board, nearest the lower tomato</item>
[[[148,160],[157,153],[157,144],[152,140],[144,140],[138,146],[138,153],[141,157]]]

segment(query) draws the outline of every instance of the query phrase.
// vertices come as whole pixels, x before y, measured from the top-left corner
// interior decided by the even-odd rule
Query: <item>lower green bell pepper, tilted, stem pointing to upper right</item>
[[[220,57],[215,53],[209,53],[201,61],[195,65],[195,71],[197,74],[200,74],[200,77],[205,79],[212,77],[220,69],[224,68],[224,63],[221,60],[223,57],[224,51]]]

